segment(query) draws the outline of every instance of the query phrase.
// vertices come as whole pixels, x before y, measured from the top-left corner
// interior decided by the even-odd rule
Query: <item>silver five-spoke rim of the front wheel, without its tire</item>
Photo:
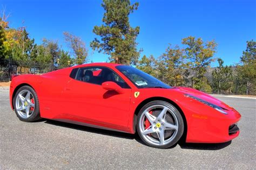
[[[161,112],[157,117],[152,115],[150,112],[154,109],[161,109]],[[169,123],[165,119],[165,115],[170,114],[173,119],[173,124]],[[150,123],[150,126],[145,128],[145,118]],[[164,105],[152,105],[147,107],[146,110],[142,113],[142,116],[139,119],[140,132],[142,133],[143,138],[153,145],[166,145],[169,144],[177,135],[178,132],[178,118],[174,113],[174,110],[170,107]],[[173,130],[173,133],[170,137],[165,137],[166,130]],[[153,138],[151,134],[156,133],[158,139]]]

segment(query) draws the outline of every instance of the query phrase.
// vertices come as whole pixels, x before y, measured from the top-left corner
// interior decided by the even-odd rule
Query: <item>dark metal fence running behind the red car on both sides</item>
[[[0,82],[10,81],[12,76],[19,74],[43,74],[46,72],[61,69],[58,64],[39,64],[36,62],[14,62],[4,60],[0,62]],[[174,79],[166,82],[171,86],[184,86],[197,88],[206,93],[217,94],[246,94],[256,95],[256,81],[246,79],[234,79],[232,81],[215,81],[211,78],[204,78],[200,81],[200,86],[196,86],[193,77],[188,79]]]

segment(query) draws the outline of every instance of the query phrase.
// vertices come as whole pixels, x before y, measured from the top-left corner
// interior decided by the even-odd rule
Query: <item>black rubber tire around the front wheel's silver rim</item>
[[[178,120],[178,122],[176,124],[178,124],[178,130],[177,130],[177,133],[176,133],[176,136],[168,143],[168,144],[165,144],[165,145],[154,145],[154,144],[151,144],[150,142],[146,141],[143,137],[143,134],[141,133],[140,131],[140,126],[139,126],[139,121],[140,121],[140,118],[143,116],[143,112],[153,106],[153,105],[163,105],[163,106],[166,106],[168,108],[171,108],[171,110],[173,111],[173,114],[176,115],[176,118]],[[165,119],[165,118],[164,118]],[[153,128],[153,127],[152,127]],[[147,103],[146,105],[144,105],[139,113],[138,113],[138,117],[137,117],[137,124],[136,124],[136,130],[137,130],[137,133],[139,134],[139,137],[140,139],[142,139],[142,141],[148,145],[148,146],[151,146],[151,147],[155,147],[155,148],[161,148],[161,149],[164,149],[164,148],[170,148],[174,145],[177,144],[177,142],[179,141],[179,139],[181,138],[181,136],[183,135],[183,132],[184,132],[184,121],[183,121],[183,118],[180,114],[180,112],[177,110],[176,107],[174,107],[172,104],[170,103],[167,103],[166,101],[162,101],[162,100],[155,100],[155,101],[151,101],[150,103]],[[163,127],[163,130],[164,130],[164,127]],[[150,135],[152,135],[153,133],[151,133]],[[174,134],[174,133],[173,133]],[[164,140],[165,140],[165,131],[164,131]]]

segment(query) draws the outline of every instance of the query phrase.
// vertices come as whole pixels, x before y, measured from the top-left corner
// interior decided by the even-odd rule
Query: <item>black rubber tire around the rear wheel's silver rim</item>
[[[21,115],[19,115],[18,112],[17,112],[16,99],[18,97],[19,92],[21,92],[22,90],[28,90],[33,95],[33,100],[34,100],[35,106],[33,107],[33,112],[31,113],[29,118],[22,118]],[[36,91],[33,90],[32,87],[30,87],[30,86],[22,86],[21,88],[19,88],[17,90],[17,92],[15,93],[15,97],[12,100],[12,104],[14,106],[15,113],[16,113],[17,117],[19,118],[19,120],[26,121],[26,122],[31,122],[31,121],[37,121],[37,120],[41,119],[40,112],[39,112],[38,97],[37,97]]]

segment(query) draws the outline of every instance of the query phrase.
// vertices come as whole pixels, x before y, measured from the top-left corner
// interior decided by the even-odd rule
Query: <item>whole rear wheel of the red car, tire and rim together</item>
[[[19,120],[36,121],[41,119],[37,94],[32,87],[22,86],[16,92],[12,102]]]

